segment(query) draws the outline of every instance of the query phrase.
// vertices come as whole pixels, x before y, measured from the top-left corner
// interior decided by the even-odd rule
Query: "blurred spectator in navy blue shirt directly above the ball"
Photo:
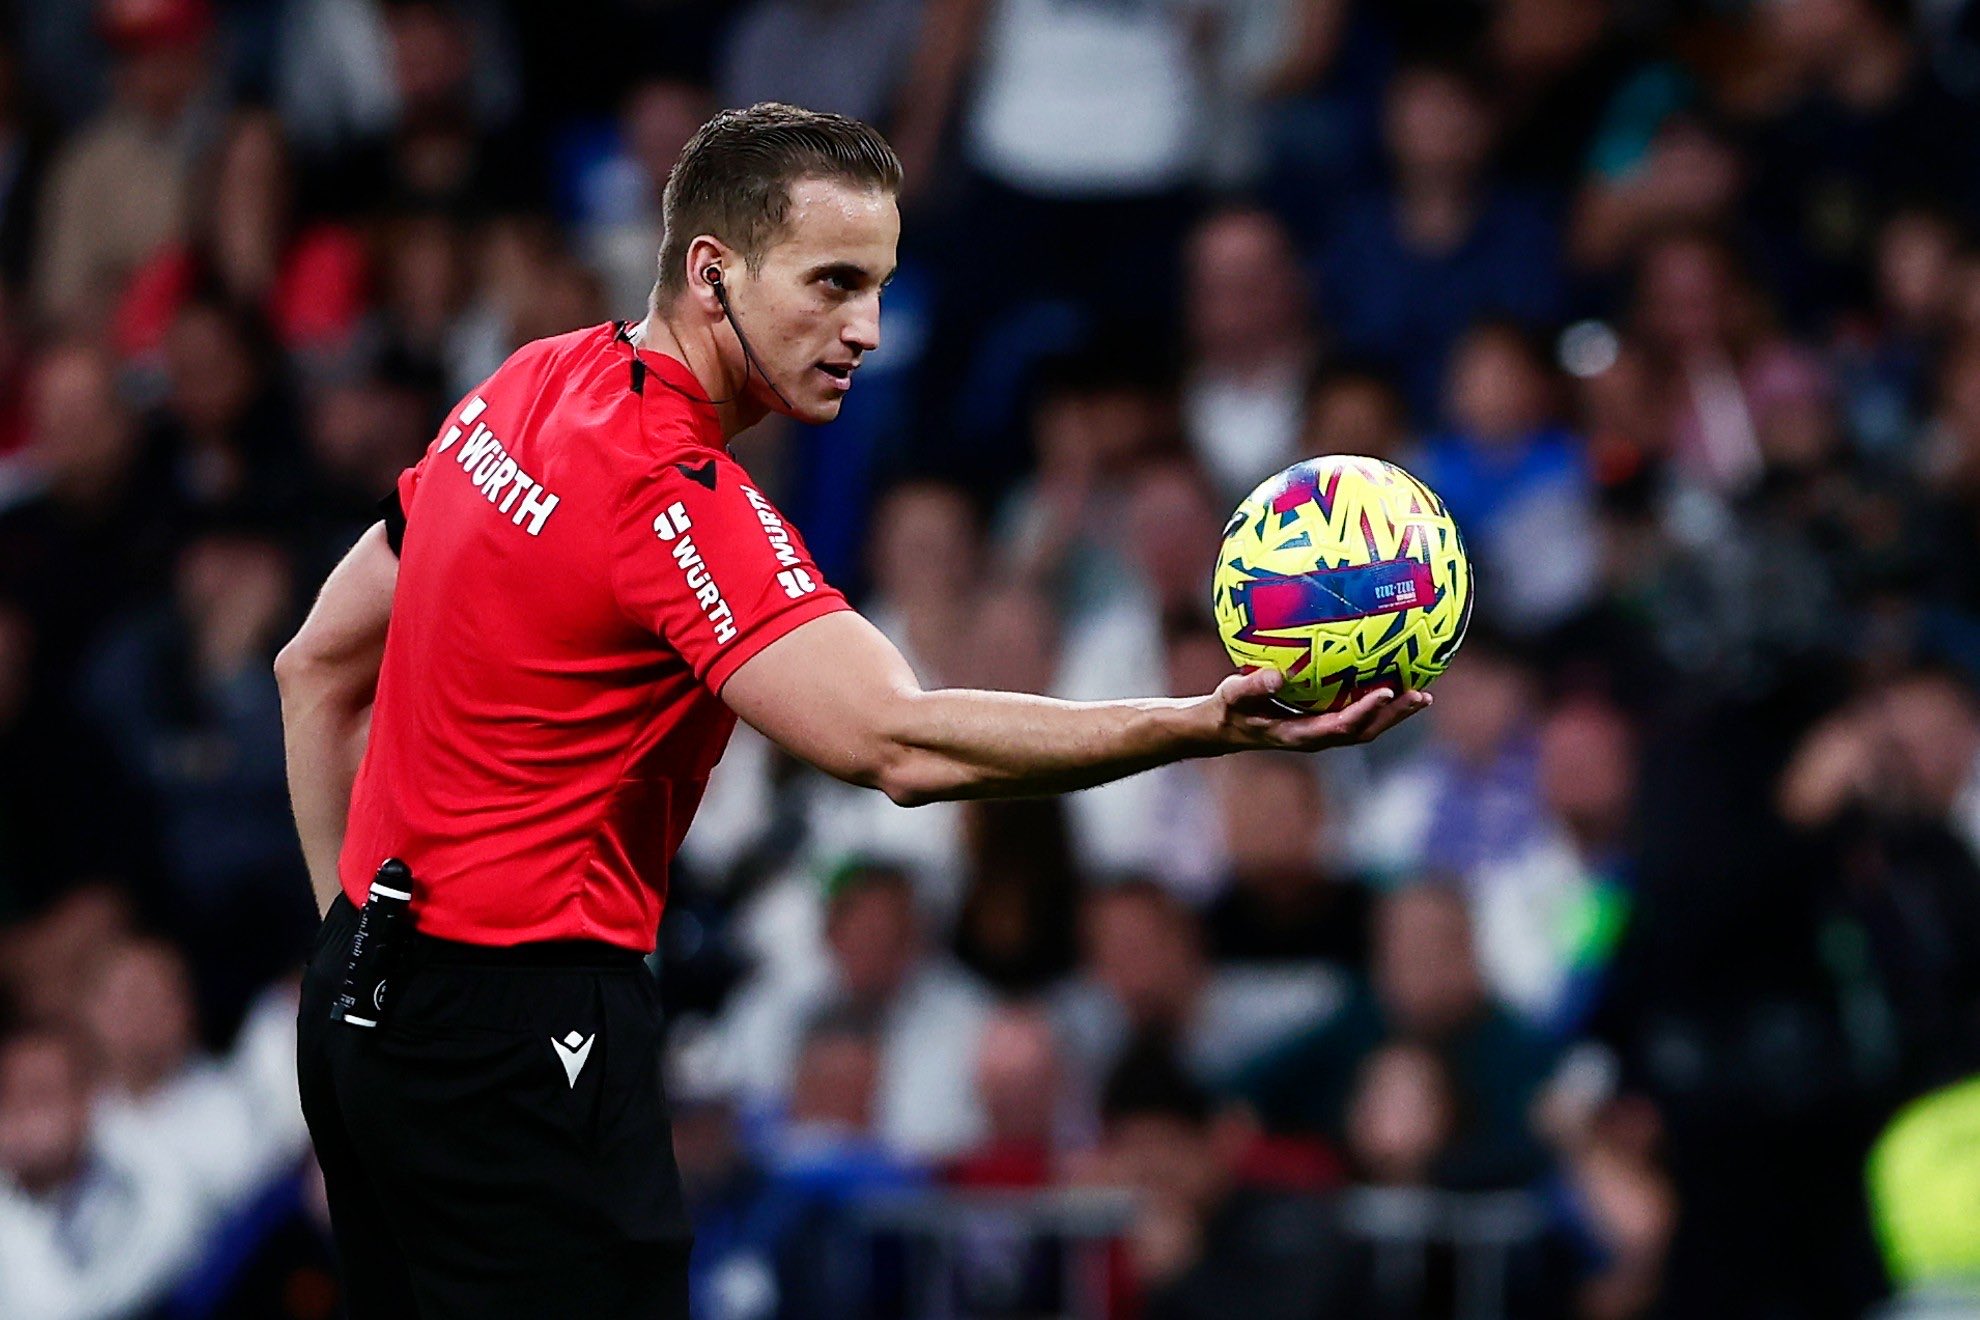
[[[1340,342],[1396,370],[1416,416],[1432,418],[1467,325],[1560,313],[1558,239],[1533,198],[1489,178],[1493,111],[1467,75],[1400,69],[1386,125],[1390,182],[1348,204],[1321,287]]]

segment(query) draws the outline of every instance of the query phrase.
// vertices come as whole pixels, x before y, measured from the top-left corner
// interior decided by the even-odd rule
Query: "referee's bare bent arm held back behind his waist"
[[[331,570],[303,627],[275,657],[289,805],[319,912],[329,910],[339,889],[337,855],[370,734],[396,586],[398,556],[378,522]]]

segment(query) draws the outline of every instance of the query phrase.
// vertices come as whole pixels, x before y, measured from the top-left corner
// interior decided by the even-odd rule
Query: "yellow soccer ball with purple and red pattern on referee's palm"
[[[1430,487],[1394,463],[1333,453],[1238,505],[1212,596],[1239,669],[1281,671],[1285,705],[1338,710],[1449,667],[1471,621],[1471,560]]]

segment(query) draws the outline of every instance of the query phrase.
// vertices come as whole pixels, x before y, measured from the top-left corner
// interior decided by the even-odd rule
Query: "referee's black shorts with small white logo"
[[[348,1320],[685,1320],[691,1235],[638,954],[414,936],[366,1031],[329,1017],[354,930],[337,898],[297,1029]]]

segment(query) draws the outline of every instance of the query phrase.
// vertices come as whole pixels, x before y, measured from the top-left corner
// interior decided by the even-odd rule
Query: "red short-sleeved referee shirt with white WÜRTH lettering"
[[[428,934],[653,948],[735,728],[717,693],[845,610],[693,398],[681,362],[612,325],[560,334],[503,362],[400,477],[350,902],[402,857]]]

